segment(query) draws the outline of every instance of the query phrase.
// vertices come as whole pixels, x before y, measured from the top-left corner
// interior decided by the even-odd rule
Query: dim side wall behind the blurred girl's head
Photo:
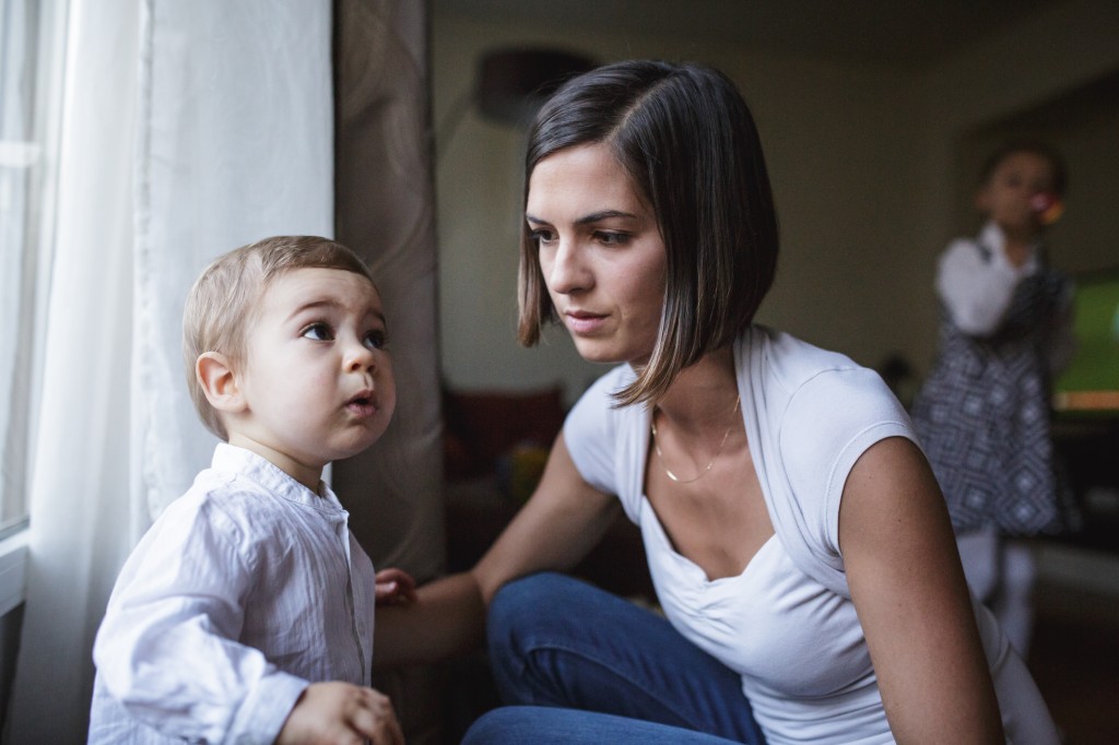
[[[1069,209],[1053,229],[1054,263],[1070,272],[1119,264],[1119,4],[1054,4],[944,60],[920,78],[925,107],[919,220],[937,236],[927,271],[952,235],[975,227],[977,161],[1006,133],[1054,142],[1069,161]]]

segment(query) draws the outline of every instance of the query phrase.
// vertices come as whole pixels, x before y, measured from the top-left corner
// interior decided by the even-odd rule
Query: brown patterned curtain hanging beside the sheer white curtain
[[[377,280],[397,399],[377,444],[335,464],[333,487],[374,564],[421,582],[445,558],[427,4],[335,0],[338,238]],[[374,678],[408,743],[444,742],[443,679],[440,666]]]

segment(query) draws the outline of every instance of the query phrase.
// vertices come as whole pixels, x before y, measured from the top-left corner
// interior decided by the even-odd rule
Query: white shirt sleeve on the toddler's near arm
[[[129,557],[94,644],[106,690],[189,742],[271,743],[308,682],[236,641],[253,584],[245,532],[211,503],[172,503]]]

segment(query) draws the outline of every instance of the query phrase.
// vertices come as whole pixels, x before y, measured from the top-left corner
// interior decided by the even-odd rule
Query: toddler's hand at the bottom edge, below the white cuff
[[[276,745],[404,745],[388,697],[347,682],[311,683],[295,701]]]

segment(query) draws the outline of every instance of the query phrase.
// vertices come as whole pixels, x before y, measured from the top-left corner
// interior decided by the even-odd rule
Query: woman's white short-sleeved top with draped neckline
[[[629,366],[603,376],[580,399],[564,424],[564,442],[587,483],[618,494],[640,527],[666,616],[742,677],[769,743],[892,743],[847,592],[839,502],[867,447],[890,436],[913,440],[909,417],[875,372],[788,334],[754,327],[734,352],[746,436],[775,530],[741,575],[708,581],[675,550],[649,504],[649,411],[611,407],[610,393],[633,379]],[[1040,709],[1027,708],[1027,718],[1036,719],[1028,727],[1052,732],[1044,704],[1017,690],[1022,676],[1023,686],[1033,687],[1025,668],[1006,663],[1008,644],[990,615],[981,615],[1008,736],[1018,727],[1017,701]],[[1000,685],[1004,672],[1013,680]]]

